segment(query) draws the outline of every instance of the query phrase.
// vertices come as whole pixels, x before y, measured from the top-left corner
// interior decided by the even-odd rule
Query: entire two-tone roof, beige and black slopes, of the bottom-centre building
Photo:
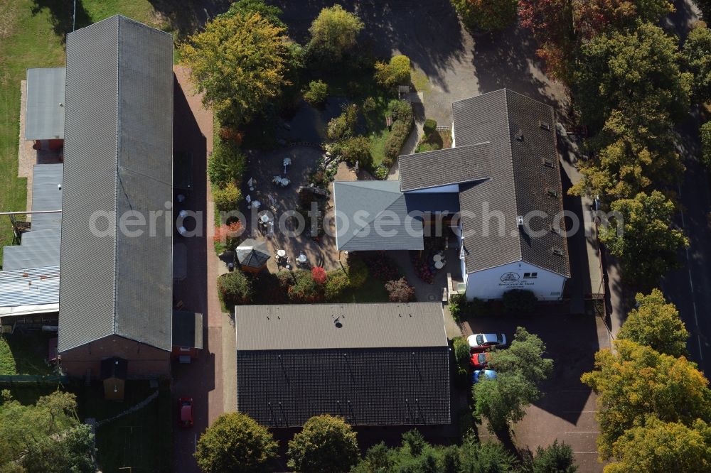
[[[237,306],[235,332],[236,407],[263,425],[451,421],[439,303]]]

